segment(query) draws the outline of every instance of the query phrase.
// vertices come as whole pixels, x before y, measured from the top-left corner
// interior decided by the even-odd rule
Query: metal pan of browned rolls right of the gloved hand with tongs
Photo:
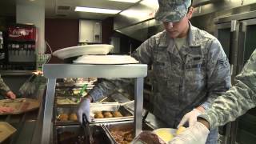
[[[94,118],[94,115],[98,111],[114,112],[119,111],[122,114],[122,117],[116,118]],[[102,105],[90,105],[90,117],[92,118],[92,123],[94,122],[118,122],[118,121],[128,121],[134,119],[134,114],[132,111],[127,110],[125,106],[120,106],[118,104],[102,104]]]

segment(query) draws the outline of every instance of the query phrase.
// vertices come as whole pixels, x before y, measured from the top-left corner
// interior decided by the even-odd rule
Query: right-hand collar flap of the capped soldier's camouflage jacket
[[[192,26],[190,22],[189,24],[190,24],[189,35],[188,35],[189,46],[201,46],[202,42],[199,40],[201,39],[199,37],[202,37],[202,36],[198,34],[198,28]]]

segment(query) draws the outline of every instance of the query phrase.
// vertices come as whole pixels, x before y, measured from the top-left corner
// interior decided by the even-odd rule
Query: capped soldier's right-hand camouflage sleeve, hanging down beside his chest
[[[210,50],[207,56],[206,74],[208,95],[206,102],[202,103],[206,110],[215,98],[230,89],[230,64],[218,39],[210,43]]]

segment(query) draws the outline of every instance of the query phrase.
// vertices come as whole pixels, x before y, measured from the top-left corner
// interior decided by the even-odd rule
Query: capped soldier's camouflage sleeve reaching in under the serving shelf
[[[150,63],[151,48],[154,46],[153,38],[143,42],[137,50],[134,51],[133,57],[141,63]],[[99,82],[94,89],[90,90],[89,95],[93,98],[93,101],[97,101],[103,96],[108,96],[114,93],[115,90],[134,90],[134,79],[133,78],[104,78],[102,82]],[[133,92],[131,92],[133,93]]]

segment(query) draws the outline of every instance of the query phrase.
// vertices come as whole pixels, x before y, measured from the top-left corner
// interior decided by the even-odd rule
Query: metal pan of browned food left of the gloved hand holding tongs
[[[78,124],[78,120],[74,120],[71,118],[71,114],[77,114],[78,106],[72,107],[56,107],[54,110],[55,119],[54,122],[56,125],[71,125],[71,124]],[[78,117],[77,117],[78,118]]]

